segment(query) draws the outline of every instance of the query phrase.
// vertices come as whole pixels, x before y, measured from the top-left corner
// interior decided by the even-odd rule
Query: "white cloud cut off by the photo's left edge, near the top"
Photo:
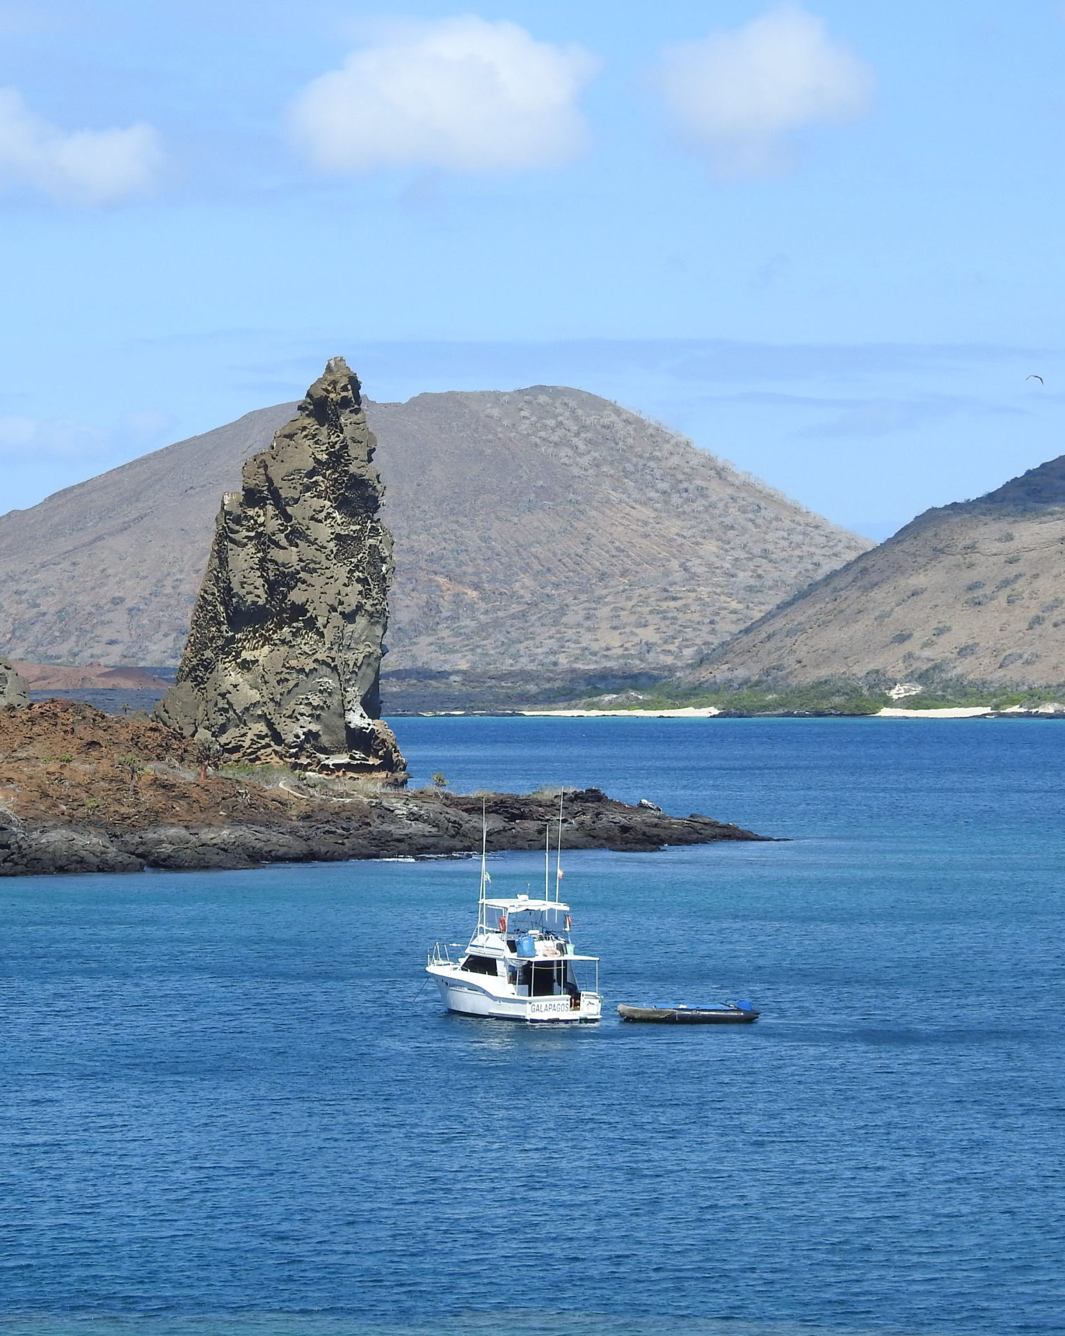
[[[151,126],[64,134],[0,88],[0,186],[29,186],[64,204],[111,204],[155,182],[162,150]]]

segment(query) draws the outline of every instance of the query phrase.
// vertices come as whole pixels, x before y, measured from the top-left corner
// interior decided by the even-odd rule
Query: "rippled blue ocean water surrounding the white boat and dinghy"
[[[780,840],[569,854],[563,1031],[422,986],[469,862],[0,883],[4,1336],[1065,1331],[1065,725],[397,727]]]

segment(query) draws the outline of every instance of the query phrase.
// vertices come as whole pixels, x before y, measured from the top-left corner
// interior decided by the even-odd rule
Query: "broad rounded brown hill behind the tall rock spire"
[[[366,409],[396,534],[393,672],[676,671],[869,546],[581,390]],[[0,648],[176,663],[222,493],[293,410],[0,516]]]

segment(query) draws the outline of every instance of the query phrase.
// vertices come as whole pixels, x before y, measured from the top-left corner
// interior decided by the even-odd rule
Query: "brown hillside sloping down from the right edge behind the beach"
[[[1065,456],[975,501],[926,510],[716,648],[684,681],[871,672],[1065,683]]]

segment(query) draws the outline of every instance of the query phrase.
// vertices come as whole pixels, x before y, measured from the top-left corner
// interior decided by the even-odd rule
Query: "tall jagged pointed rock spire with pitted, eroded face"
[[[156,716],[222,758],[400,775],[381,721],[392,534],[358,379],[333,358],[227,493]]]

